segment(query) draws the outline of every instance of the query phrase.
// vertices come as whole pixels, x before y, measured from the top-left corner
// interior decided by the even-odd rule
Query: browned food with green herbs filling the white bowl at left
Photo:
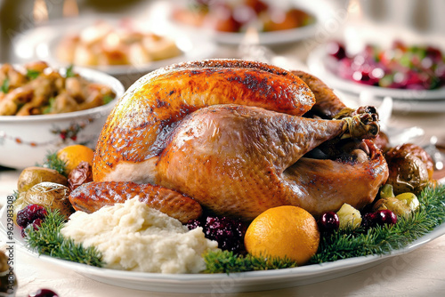
[[[87,81],[72,68],[61,74],[44,61],[23,70],[3,64],[0,84],[0,116],[61,114],[96,108],[116,97],[108,85]]]

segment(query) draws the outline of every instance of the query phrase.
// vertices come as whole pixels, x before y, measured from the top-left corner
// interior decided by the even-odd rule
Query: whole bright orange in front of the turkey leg
[[[244,238],[248,253],[291,259],[303,265],[317,253],[317,221],[301,207],[279,206],[266,210],[249,225]]]

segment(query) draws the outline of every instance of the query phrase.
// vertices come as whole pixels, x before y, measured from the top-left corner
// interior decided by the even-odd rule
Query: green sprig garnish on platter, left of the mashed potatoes
[[[77,245],[70,238],[61,235],[65,217],[58,210],[47,209],[47,216],[38,230],[27,229],[27,245],[39,254],[46,254],[62,260],[75,261],[102,267],[101,253],[94,247]]]

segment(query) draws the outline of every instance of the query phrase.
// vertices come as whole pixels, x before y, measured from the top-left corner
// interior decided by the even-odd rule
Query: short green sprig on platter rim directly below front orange
[[[290,259],[255,257],[251,254],[240,255],[229,251],[212,251],[204,255],[205,273],[231,273],[253,270],[288,269],[296,267]]]

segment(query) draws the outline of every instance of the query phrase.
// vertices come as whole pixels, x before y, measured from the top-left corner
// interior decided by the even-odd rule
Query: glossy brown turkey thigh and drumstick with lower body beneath
[[[194,197],[215,213],[246,220],[279,205],[298,205],[314,215],[344,203],[362,207],[373,201],[387,178],[381,154],[373,151],[360,163],[344,165],[315,160],[319,164],[329,161],[332,172],[328,165],[319,170],[304,166],[309,161],[298,165],[312,148],[356,130],[358,123],[239,105],[201,108],[175,128],[159,158],[155,182]],[[336,181],[337,177],[342,179]],[[344,187],[348,178],[363,187]]]

